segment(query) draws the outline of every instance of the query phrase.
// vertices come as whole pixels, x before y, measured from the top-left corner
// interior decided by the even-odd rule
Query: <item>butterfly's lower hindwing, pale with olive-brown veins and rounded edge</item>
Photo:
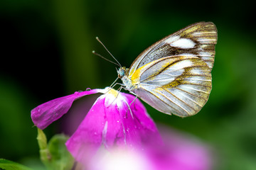
[[[166,63],[166,67],[161,67]],[[156,67],[159,67],[157,72]],[[211,90],[210,69],[206,62],[196,57],[160,59],[141,71],[140,80],[133,90],[139,98],[158,111],[181,117],[198,113]]]

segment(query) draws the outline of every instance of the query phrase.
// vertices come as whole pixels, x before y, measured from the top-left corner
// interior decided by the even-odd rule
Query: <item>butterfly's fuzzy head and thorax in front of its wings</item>
[[[132,89],[134,89],[134,84],[132,84],[132,80],[129,79],[129,69],[126,67],[120,67],[117,70],[117,74],[119,79],[122,80],[125,88],[129,91],[132,91]]]

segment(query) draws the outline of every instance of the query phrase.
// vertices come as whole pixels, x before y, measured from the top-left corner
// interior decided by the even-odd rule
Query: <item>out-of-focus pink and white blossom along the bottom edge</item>
[[[85,169],[90,170],[210,170],[210,149],[191,135],[161,127],[163,145],[133,150],[117,148],[112,152],[102,149]]]

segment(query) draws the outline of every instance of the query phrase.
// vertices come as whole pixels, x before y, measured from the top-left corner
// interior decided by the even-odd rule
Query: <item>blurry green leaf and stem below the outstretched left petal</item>
[[[43,133],[43,130],[38,129],[37,140],[40,148],[41,161],[45,164],[47,169],[72,169],[74,159],[65,146],[68,136],[63,134],[55,135],[50,139],[47,145],[46,135]]]

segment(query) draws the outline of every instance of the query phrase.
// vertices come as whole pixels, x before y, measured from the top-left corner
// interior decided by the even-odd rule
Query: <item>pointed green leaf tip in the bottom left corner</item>
[[[4,170],[32,170],[27,166],[23,166],[22,164],[18,164],[16,162],[11,162],[6,159],[0,159],[0,169]]]

